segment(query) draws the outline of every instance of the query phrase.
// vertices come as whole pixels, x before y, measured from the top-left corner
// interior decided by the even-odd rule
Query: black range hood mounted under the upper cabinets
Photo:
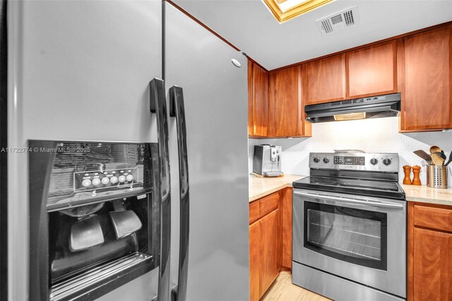
[[[400,113],[400,93],[307,105],[304,112],[312,123],[395,117]]]

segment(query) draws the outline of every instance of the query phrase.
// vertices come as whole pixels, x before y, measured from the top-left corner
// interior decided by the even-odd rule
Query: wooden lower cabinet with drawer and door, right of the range
[[[448,218],[445,211],[452,206],[408,203],[408,300],[452,300],[452,232],[424,228],[425,217]]]

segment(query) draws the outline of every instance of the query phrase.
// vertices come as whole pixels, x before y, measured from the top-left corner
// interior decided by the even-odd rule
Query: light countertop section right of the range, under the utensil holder
[[[433,203],[452,206],[452,189],[430,188],[425,185],[404,185],[407,201],[418,201],[422,203]]]

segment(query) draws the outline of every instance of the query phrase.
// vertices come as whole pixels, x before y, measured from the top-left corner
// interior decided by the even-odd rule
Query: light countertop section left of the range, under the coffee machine
[[[307,176],[283,175],[283,177],[257,177],[249,175],[249,202],[261,199],[263,196],[285,187],[292,187],[292,182]]]

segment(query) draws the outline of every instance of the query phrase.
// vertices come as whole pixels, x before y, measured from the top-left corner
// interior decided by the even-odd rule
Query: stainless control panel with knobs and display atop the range
[[[334,157],[364,157],[364,165],[335,164]],[[319,162],[316,162],[316,158]],[[328,163],[323,161],[328,158]],[[371,159],[378,160],[376,165],[371,164]],[[391,163],[384,165],[383,160],[389,159]],[[398,153],[309,153],[309,168],[330,170],[362,170],[378,172],[398,172]]]

